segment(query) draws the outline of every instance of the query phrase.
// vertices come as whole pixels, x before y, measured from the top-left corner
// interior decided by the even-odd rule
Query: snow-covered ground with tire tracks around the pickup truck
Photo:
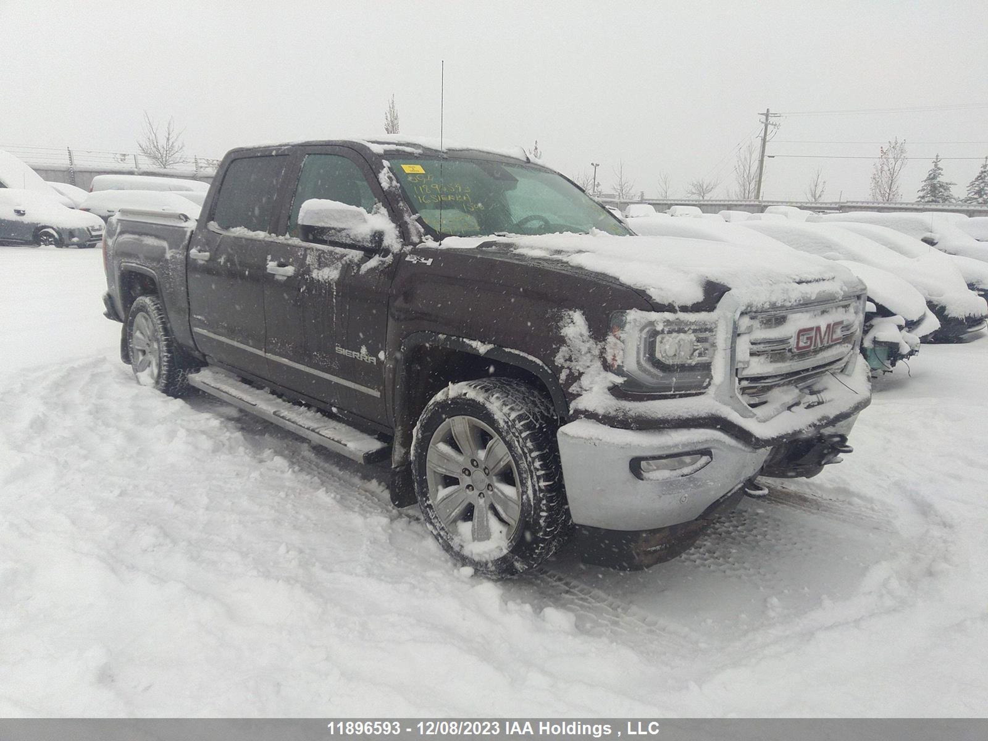
[[[988,340],[675,561],[493,583],[381,471],[134,384],[103,289],[0,248],[0,715],[988,713]]]

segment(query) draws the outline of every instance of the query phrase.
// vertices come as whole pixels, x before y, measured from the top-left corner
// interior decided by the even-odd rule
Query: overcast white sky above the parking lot
[[[873,156],[909,143],[904,197],[936,152],[988,154],[988,2],[90,2],[0,0],[0,147],[132,151],[141,115],[174,116],[189,153],[383,132],[531,147],[568,175],[623,160],[646,195],[719,176],[757,114],[787,116],[770,153]],[[765,197],[867,196],[867,159],[768,160]],[[947,160],[962,195],[976,160]],[[719,168],[719,169],[718,169]]]

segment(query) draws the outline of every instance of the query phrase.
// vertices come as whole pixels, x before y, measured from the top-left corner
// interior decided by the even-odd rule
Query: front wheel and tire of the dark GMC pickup
[[[512,576],[572,530],[548,399],[509,378],[454,383],[426,405],[412,441],[429,530],[460,563]]]

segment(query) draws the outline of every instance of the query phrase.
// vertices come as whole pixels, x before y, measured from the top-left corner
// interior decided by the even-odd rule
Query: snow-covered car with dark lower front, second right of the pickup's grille
[[[870,265],[906,281],[920,291],[940,321],[940,329],[924,336],[924,342],[953,342],[979,332],[985,326],[988,306],[984,298],[967,288],[960,272],[946,255],[931,250],[918,240],[912,240],[914,254],[907,257],[903,250],[908,246],[891,249],[882,241],[894,239],[897,232],[892,232],[891,237],[888,233],[869,235],[856,229],[854,222],[800,223],[790,220],[785,223],[745,222],[743,225],[800,252]],[[857,226],[864,230],[880,229],[870,224]],[[902,234],[898,236],[908,239]],[[922,248],[926,252],[921,252]],[[860,277],[864,279],[864,276]]]

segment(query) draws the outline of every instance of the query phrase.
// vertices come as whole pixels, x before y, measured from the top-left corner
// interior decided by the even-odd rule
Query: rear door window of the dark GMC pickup
[[[288,155],[284,154],[233,160],[223,175],[212,220],[223,229],[242,226],[251,231],[270,231],[275,199],[287,165]]]

